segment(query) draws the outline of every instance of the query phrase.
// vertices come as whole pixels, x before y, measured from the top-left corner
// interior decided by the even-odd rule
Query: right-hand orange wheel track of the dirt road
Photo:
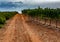
[[[28,34],[30,35],[30,38],[32,40],[32,42],[42,42],[40,37],[38,35],[36,35],[30,28],[30,26],[28,26],[26,23],[25,23],[25,19],[24,17],[21,15],[22,17],[22,20],[23,20],[23,25],[24,27],[26,28],[26,30],[28,31]]]

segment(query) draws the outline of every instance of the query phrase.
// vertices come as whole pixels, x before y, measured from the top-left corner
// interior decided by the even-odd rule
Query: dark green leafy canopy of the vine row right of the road
[[[24,9],[22,10],[22,13],[31,17],[39,17],[40,19],[46,19],[50,20],[56,20],[56,27],[57,27],[57,21],[60,19],[60,8],[51,9],[51,8],[35,8],[35,9]],[[49,25],[50,25],[49,24]]]

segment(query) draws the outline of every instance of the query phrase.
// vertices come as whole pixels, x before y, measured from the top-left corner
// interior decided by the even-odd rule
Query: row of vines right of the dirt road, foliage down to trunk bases
[[[47,26],[52,26],[54,24],[56,28],[58,28],[60,21],[60,8],[50,9],[50,8],[35,8],[35,9],[24,9],[22,13],[29,17],[30,20],[33,21],[44,21],[40,22]],[[49,23],[48,23],[49,22]],[[53,23],[52,23],[53,22]]]

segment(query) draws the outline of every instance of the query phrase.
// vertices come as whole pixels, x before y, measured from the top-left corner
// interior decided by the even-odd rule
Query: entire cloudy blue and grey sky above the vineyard
[[[1,4],[1,2],[3,3]],[[11,1],[11,2],[5,2]],[[42,8],[60,8],[59,0],[0,0],[0,11],[18,11],[23,9],[36,8],[38,6]],[[21,2],[22,1],[22,2]],[[50,3],[49,3],[50,2]],[[26,4],[24,4],[26,3]],[[40,4],[38,4],[40,3]],[[34,5],[32,5],[34,4]]]

